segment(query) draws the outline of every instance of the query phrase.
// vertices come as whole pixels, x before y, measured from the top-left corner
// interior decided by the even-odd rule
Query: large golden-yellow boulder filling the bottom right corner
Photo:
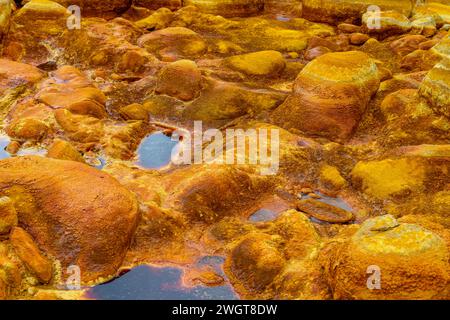
[[[325,275],[336,299],[448,299],[447,246],[445,238],[392,216],[369,219],[324,249]]]

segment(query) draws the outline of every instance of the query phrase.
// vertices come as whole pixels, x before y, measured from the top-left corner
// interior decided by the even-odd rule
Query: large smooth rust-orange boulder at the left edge
[[[0,190],[14,200],[20,224],[41,250],[64,268],[78,265],[83,282],[111,276],[120,266],[137,203],[107,174],[72,161],[7,159],[0,162]]]

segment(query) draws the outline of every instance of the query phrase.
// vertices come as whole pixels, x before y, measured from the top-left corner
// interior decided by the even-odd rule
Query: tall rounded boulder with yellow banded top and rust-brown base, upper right
[[[292,95],[273,117],[287,129],[345,140],[352,135],[378,86],[377,66],[366,54],[328,53],[302,70]]]

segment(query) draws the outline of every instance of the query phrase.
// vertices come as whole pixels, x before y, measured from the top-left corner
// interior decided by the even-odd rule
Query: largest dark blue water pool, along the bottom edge
[[[178,268],[138,266],[111,282],[88,291],[97,300],[235,300],[230,285],[218,287],[181,285],[182,271]]]

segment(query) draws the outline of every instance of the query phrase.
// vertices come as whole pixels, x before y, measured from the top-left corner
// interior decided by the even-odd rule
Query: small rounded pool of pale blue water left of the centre
[[[144,138],[137,150],[139,166],[149,169],[160,169],[171,161],[172,150],[178,141],[158,132]]]

